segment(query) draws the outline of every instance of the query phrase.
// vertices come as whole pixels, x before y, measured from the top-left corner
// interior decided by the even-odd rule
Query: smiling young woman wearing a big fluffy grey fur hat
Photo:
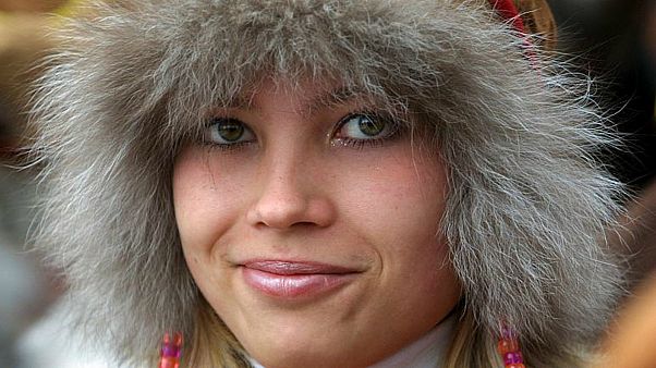
[[[76,333],[134,366],[167,331],[187,367],[585,361],[615,139],[512,2],[94,9],[34,109]]]

